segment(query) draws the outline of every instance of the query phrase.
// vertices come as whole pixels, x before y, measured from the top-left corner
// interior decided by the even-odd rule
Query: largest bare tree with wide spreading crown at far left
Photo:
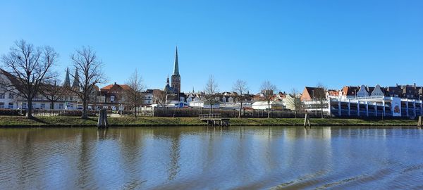
[[[39,93],[39,87],[44,80],[54,77],[52,66],[59,56],[50,46],[34,48],[24,40],[15,42],[10,52],[1,56],[6,72],[10,73],[8,80],[1,80],[6,91],[20,96],[27,101],[27,118],[32,116],[32,100]]]

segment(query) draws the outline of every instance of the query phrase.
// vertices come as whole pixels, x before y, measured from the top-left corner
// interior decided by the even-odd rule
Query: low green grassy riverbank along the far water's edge
[[[120,117],[109,118],[116,127],[202,126],[198,118]],[[310,119],[312,126],[416,126],[416,120],[363,120],[363,119]],[[301,118],[231,118],[231,126],[302,126]],[[28,120],[22,116],[0,116],[0,127],[96,127],[97,118],[82,120],[79,117],[53,116]]]

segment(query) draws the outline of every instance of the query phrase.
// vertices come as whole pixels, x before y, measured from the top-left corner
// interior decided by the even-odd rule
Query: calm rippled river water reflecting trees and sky
[[[0,129],[0,189],[422,189],[413,127]]]

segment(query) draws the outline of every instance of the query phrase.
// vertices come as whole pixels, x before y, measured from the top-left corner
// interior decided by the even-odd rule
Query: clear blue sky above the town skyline
[[[108,83],[135,68],[163,88],[178,45],[183,91],[214,75],[220,91],[264,80],[281,91],[318,82],[423,85],[423,1],[1,1],[0,54],[53,46],[56,70],[92,46]],[[64,78],[64,76],[63,76]]]

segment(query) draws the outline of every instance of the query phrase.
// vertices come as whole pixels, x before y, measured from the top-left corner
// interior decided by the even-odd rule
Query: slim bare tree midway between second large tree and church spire
[[[142,83],[142,77],[138,75],[137,70],[129,77],[126,85],[128,85],[130,89],[125,89],[125,101],[134,108],[134,116],[136,118],[137,108],[140,107],[142,101],[144,101],[144,94],[142,94],[142,91],[145,90],[145,85]]]

